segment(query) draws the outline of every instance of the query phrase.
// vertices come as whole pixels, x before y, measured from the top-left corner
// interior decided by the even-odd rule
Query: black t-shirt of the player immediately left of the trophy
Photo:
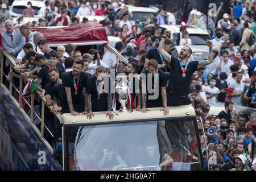
[[[97,90],[97,77],[92,76],[88,79],[86,83],[86,93],[92,95],[92,111],[98,112],[98,111],[108,111],[108,93],[102,93],[100,94],[100,99],[98,99],[98,90]],[[97,84],[97,85],[96,85]],[[105,83],[104,83],[104,90]],[[110,93],[110,77],[109,77],[109,90]]]

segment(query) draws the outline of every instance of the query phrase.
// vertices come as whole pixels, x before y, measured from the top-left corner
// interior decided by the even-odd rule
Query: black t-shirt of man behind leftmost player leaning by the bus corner
[[[59,62],[57,63],[56,68],[59,71],[60,78],[61,78],[61,74],[65,71],[65,69],[64,69],[63,65]],[[38,77],[42,79],[42,83],[41,83],[42,89],[45,89],[46,85],[49,82],[51,82],[51,80],[49,79],[49,76],[48,76],[48,71],[49,71],[49,67],[47,65],[46,67],[41,68],[38,73]]]

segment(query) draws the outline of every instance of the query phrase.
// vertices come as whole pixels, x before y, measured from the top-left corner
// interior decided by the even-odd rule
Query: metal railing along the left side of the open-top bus
[[[13,88],[15,89],[15,91],[19,94],[19,99],[18,99],[18,107],[20,110],[22,109],[22,102],[24,102],[29,108],[30,108],[30,115],[28,116],[28,113],[26,113],[26,111],[24,111],[23,113],[26,113],[29,118],[29,122],[33,125],[34,124],[34,114],[35,116],[39,119],[39,121],[41,122],[41,129],[40,129],[40,137],[43,139],[44,142],[46,142],[46,139],[44,138],[44,129],[47,130],[47,132],[51,135],[51,137],[54,137],[54,135],[51,133],[51,131],[48,129],[48,127],[45,125],[44,123],[44,110],[46,107],[49,108],[49,110],[52,109],[52,106],[48,106],[46,103],[46,99],[44,96],[42,96],[42,93],[38,92],[37,90],[35,91],[34,94],[32,94],[30,96],[30,103],[26,100],[26,98],[22,95],[23,92],[23,73],[17,73],[19,74],[19,89],[16,88],[16,86],[13,84],[13,81],[9,81],[9,88],[6,87],[5,82],[3,82],[4,77],[7,79],[8,75],[5,74],[5,70],[4,70],[4,64],[6,63],[6,61],[10,61],[10,72],[13,72],[13,67],[15,67],[16,65],[18,65],[16,63],[16,59],[13,55],[8,55],[7,53],[5,53],[4,51],[1,50],[1,72],[0,72],[0,84],[2,86],[5,86],[5,88],[7,90],[9,90],[9,95],[10,96],[14,96],[13,95]],[[41,109],[41,117],[38,115],[38,113],[35,112],[34,110],[34,99],[35,96],[39,97],[39,100],[42,101],[42,109]],[[53,113],[55,115],[55,117],[59,120],[60,123],[61,122],[61,114],[60,113]],[[36,127],[34,127],[35,129]],[[48,143],[48,142],[47,142]],[[49,150],[53,153],[53,149],[51,147],[51,144],[47,144],[47,147],[49,148]]]

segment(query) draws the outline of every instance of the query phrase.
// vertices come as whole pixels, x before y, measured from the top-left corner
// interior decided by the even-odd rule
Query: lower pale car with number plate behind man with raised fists
[[[181,48],[183,46],[175,46],[172,49],[172,56],[179,57]],[[207,46],[189,46],[192,49],[191,61],[201,61],[204,59],[208,59],[209,56],[209,48]]]

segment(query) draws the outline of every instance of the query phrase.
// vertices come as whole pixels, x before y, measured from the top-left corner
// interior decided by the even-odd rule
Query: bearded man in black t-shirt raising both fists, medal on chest
[[[171,31],[165,30],[162,40],[159,44],[159,51],[164,60],[168,61],[171,66],[170,82],[168,84],[168,106],[189,105],[191,102],[188,99],[190,82],[193,72],[199,68],[204,68],[213,61],[213,47],[212,42],[207,40],[209,47],[208,60],[192,61],[188,59],[192,55],[192,49],[188,46],[181,48],[179,59],[169,55],[164,51],[164,41],[167,36],[170,36]]]

